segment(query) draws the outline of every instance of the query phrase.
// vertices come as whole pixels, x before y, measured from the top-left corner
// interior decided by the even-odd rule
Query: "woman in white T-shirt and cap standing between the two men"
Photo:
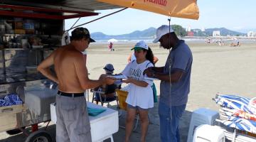
[[[139,41],[134,48],[136,60],[129,62],[122,71],[122,75],[128,77],[124,83],[128,85],[127,102],[127,119],[125,125],[125,141],[129,141],[132,133],[134,119],[139,111],[139,119],[142,122],[141,141],[146,141],[146,133],[149,126],[148,113],[149,109],[154,107],[154,96],[151,85],[152,80],[146,80],[143,75],[147,67],[153,67],[154,55],[148,45],[142,40]]]

